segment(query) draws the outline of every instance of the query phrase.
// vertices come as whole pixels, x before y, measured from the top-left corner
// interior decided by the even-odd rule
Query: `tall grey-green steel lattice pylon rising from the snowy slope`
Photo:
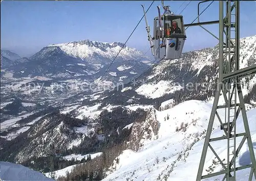
[[[225,17],[224,17],[224,3]],[[219,1],[220,20],[219,20],[219,80],[215,94],[214,105],[212,106],[209,124],[206,132],[205,142],[201,155],[200,165],[197,174],[197,180],[208,177],[214,177],[224,174],[223,180],[236,180],[236,171],[251,168],[249,180],[252,179],[253,173],[256,178],[256,161],[253,152],[251,135],[245,110],[244,98],[242,95],[241,81],[242,77],[250,76],[256,73],[256,64],[239,69],[240,58],[240,2],[239,1]],[[225,39],[224,39],[225,38]],[[225,40],[225,41],[224,41]],[[225,104],[219,105],[219,98],[224,96]],[[238,99],[237,99],[238,98]],[[238,102],[239,100],[239,102]],[[222,120],[217,109],[225,109],[225,118]],[[236,121],[238,115],[242,112],[245,132],[236,132]],[[221,129],[224,131],[222,137],[210,138],[212,126],[215,117],[220,121]],[[242,138],[237,147],[237,138]],[[220,140],[227,141],[227,156],[221,160],[210,142]],[[245,166],[236,166],[236,157],[247,140],[251,164]],[[222,170],[207,175],[202,175],[208,147],[214,153],[217,160],[222,166]]]

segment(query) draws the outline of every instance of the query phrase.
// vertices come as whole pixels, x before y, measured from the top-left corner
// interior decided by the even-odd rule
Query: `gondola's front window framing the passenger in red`
[[[182,16],[164,16],[164,37],[184,36],[184,25]]]

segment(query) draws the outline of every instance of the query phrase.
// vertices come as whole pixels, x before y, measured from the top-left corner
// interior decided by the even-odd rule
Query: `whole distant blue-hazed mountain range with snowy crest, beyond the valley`
[[[50,44],[29,58],[20,58],[15,53],[1,50],[1,62],[2,67],[13,71],[13,76],[17,78],[45,76],[58,79],[86,76],[87,79],[92,77],[97,79],[97,76],[101,76],[100,73],[106,70],[105,65],[114,60],[122,47],[122,51],[115,60],[116,66],[123,65],[125,61],[125,66],[130,70],[129,75],[124,75],[126,71],[122,71],[121,76],[129,77],[138,74],[147,66],[146,63],[151,61],[142,52],[124,46],[121,42],[103,43],[81,40]],[[116,77],[114,74],[112,75]],[[115,79],[119,80],[119,77]]]

